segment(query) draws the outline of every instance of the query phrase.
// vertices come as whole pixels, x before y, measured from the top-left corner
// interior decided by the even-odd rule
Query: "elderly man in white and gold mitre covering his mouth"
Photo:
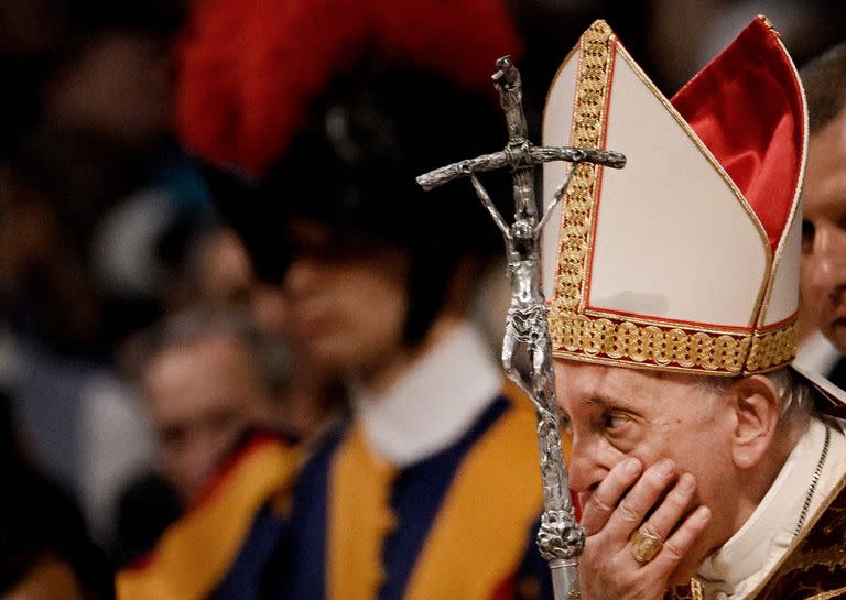
[[[582,598],[846,598],[844,395],[791,367],[807,126],[779,34],[755,19],[668,99],[596,22],[543,138],[627,157],[577,166],[543,240]]]

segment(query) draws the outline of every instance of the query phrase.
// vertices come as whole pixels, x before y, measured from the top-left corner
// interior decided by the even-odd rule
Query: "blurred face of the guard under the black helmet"
[[[290,233],[294,257],[281,292],[292,342],[327,368],[365,377],[401,353],[406,253],[311,221],[294,222]]]

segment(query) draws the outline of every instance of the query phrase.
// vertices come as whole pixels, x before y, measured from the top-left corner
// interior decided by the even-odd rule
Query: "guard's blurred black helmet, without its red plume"
[[[502,251],[500,232],[469,181],[433,192],[415,182],[426,171],[505,145],[494,95],[468,92],[423,69],[368,65],[333,81],[312,106],[308,122],[260,182],[208,168],[215,201],[265,282],[282,280],[295,251],[285,238],[290,219],[408,250],[406,341],[417,341],[462,258]],[[507,207],[503,178],[490,177],[489,188]]]

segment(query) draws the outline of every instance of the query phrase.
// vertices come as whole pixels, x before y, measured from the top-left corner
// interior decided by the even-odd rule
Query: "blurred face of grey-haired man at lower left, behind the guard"
[[[143,390],[162,472],[186,503],[245,429],[272,419],[272,401],[249,352],[227,336],[160,351],[145,370]]]

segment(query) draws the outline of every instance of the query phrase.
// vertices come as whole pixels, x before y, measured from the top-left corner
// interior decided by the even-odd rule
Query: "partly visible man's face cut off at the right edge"
[[[846,111],[811,137],[802,198],[803,313],[846,352]]]

